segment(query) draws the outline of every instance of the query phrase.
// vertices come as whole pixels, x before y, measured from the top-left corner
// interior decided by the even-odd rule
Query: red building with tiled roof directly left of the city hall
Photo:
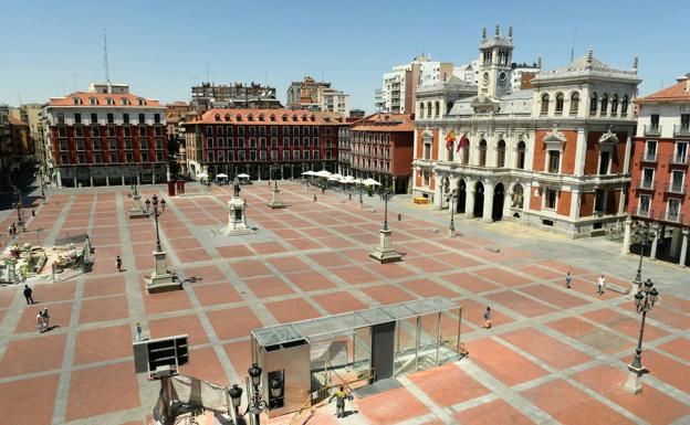
[[[373,178],[407,193],[412,173],[415,125],[408,114],[378,113],[351,127],[351,163],[355,177]]]

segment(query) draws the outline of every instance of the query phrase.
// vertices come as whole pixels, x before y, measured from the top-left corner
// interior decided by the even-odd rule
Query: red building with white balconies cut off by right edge
[[[637,100],[639,116],[628,213],[652,223],[650,255],[688,265],[690,227],[690,73],[677,84]],[[626,225],[624,253],[629,251]],[[632,241],[635,242],[635,241]],[[639,246],[635,246],[639,252]]]

